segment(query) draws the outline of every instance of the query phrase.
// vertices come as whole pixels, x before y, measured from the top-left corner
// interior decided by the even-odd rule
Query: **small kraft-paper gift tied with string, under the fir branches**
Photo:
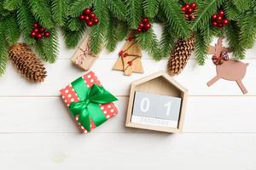
[[[75,65],[78,65],[85,71],[90,70],[91,65],[93,65],[99,56],[98,54],[92,54],[90,50],[89,39],[89,36],[85,37],[84,42],[80,44],[78,50],[71,58]]]

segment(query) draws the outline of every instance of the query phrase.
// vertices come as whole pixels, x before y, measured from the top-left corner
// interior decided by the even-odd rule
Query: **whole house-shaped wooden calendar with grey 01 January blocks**
[[[125,126],[181,133],[187,92],[164,71],[132,82]]]

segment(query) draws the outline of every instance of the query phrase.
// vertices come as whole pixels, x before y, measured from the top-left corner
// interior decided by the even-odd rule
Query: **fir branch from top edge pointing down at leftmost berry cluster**
[[[40,25],[46,28],[53,28],[55,26],[47,2],[44,0],[28,0],[28,4]]]

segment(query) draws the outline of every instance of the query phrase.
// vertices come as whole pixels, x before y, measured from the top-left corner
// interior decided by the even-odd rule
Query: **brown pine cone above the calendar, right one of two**
[[[175,76],[183,71],[183,68],[187,65],[189,57],[194,49],[195,36],[192,36],[187,40],[177,40],[167,65],[168,72],[171,76]]]

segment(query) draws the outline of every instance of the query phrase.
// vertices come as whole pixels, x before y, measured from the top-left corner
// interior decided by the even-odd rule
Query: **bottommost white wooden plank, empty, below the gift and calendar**
[[[0,134],[0,160],[11,170],[253,170],[255,143],[256,134],[233,133]]]

